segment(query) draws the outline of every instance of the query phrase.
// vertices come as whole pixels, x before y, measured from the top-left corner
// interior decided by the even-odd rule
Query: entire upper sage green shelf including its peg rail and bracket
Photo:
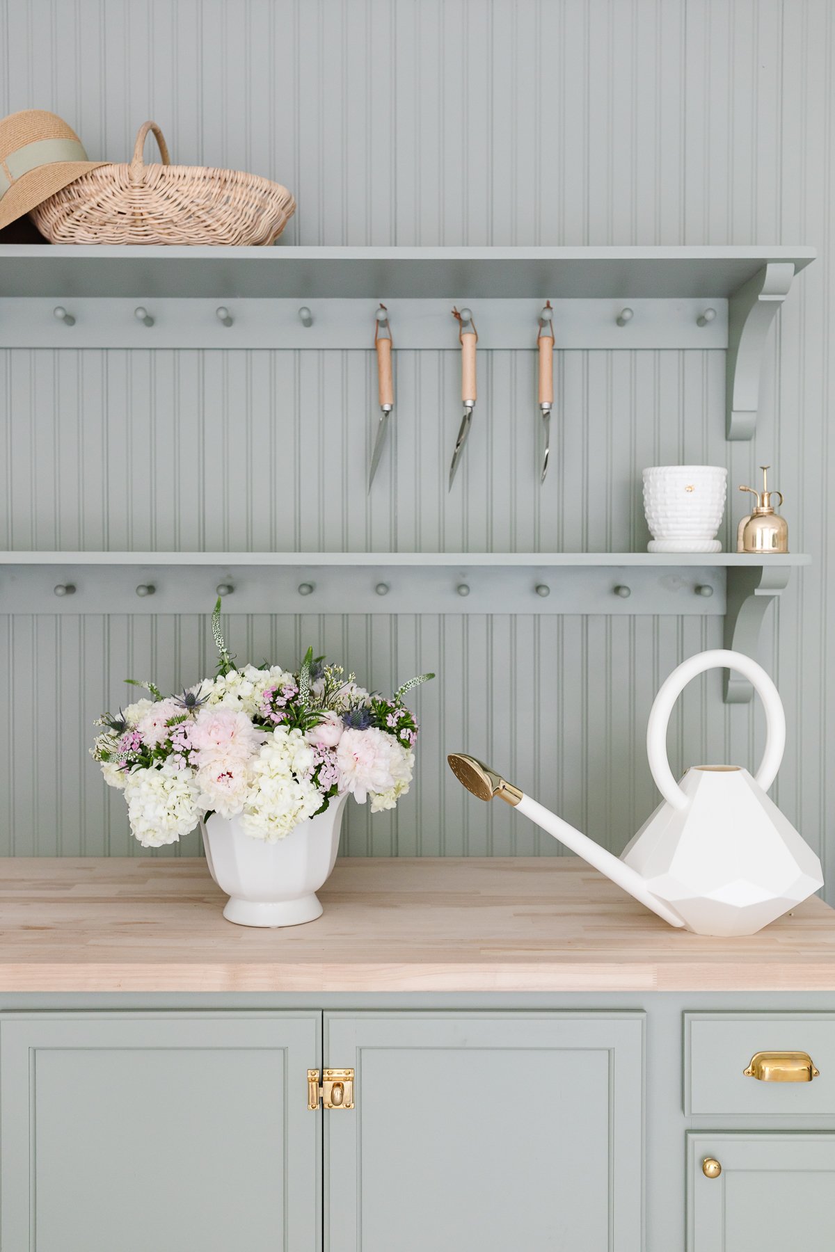
[[[454,300],[473,305],[482,348],[532,349],[548,299],[557,348],[726,348],[726,434],[750,439],[769,327],[814,259],[814,248],[766,245],[8,244],[0,346],[369,349],[383,300],[398,348],[454,349]]]

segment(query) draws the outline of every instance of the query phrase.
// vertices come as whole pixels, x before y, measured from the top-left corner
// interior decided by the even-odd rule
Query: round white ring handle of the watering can
[[[742,652],[731,652],[729,649],[717,647],[710,652],[697,652],[672,671],[669,679],[661,684],[661,689],[655,697],[650,710],[650,721],[646,727],[646,754],[650,759],[650,770],[658,791],[674,809],[686,809],[690,800],[676,782],[670,761],[667,760],[667,724],[676,700],[697,674],[705,670],[736,670],[742,677],[754,685],[755,691],[762,701],[765,709],[765,751],[760,767],[755,774],[757,784],[767,791],[774,782],[782,750],[786,742],[786,715],[782,711],[782,701],[774,682],[761,665],[752,661]]]

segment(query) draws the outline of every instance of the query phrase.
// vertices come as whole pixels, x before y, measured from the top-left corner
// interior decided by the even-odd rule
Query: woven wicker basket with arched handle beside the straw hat
[[[161,165],[145,165],[153,130]],[[146,121],[129,165],[100,165],[33,209],[51,243],[270,244],[295,212],[285,187],[255,174],[172,165]]]

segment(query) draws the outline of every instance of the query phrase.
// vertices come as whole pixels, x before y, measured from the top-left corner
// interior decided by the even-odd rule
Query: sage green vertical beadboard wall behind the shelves
[[[726,464],[735,488],[770,462],[791,545],[814,558],[762,636],[789,719],[774,794],[826,858],[834,26],[827,0],[0,0],[4,113],[54,109],[113,159],[151,116],[174,160],[289,185],[289,243],[820,250],[771,334],[754,443],[725,442],[722,353],[563,353],[542,491],[526,353],[482,358],[451,496],[457,354],[398,353],[371,498],[371,353],[0,353],[0,547],[640,548],[645,464]],[[726,545],[742,511],[732,491]],[[125,697],[126,675],[170,687],[212,665],[198,615],[210,606],[194,607],[0,618],[0,851],[143,854],[86,756],[90,722]],[[443,760],[462,746],[620,850],[655,804],[643,734],[656,687],[721,642],[719,618],[695,617],[225,626],[242,659],[289,665],[309,641],[382,689],[438,671],[417,697],[413,793],[396,815],[351,808],[353,855],[558,853],[464,795]],[[759,712],[722,705],[719,674],[680,701],[674,765],[755,764],[761,745]],[[197,848],[192,836],[159,855]]]

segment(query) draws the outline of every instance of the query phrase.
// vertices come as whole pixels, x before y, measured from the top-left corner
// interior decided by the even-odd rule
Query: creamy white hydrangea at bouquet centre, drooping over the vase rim
[[[322,806],[322,793],[307,776],[314,752],[300,730],[277,726],[250,762],[252,784],[240,829],[255,839],[277,843]]]

